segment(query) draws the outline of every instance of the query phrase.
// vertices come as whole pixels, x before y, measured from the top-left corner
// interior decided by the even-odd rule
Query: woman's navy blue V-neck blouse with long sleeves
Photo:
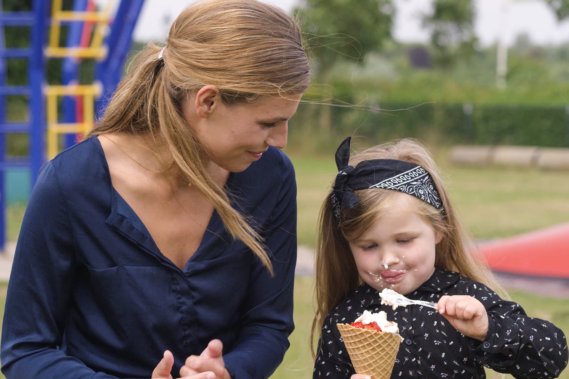
[[[113,189],[96,137],[44,165],[8,286],[6,378],[149,379],[166,349],[177,377],[214,338],[233,379],[269,377],[294,329],[294,169],[269,148],[231,173],[226,190],[265,238],[274,277],[215,211],[197,251],[176,267]]]

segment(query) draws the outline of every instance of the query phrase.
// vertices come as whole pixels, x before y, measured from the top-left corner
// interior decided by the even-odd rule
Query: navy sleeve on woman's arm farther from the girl
[[[69,210],[51,162],[40,170],[14,255],[2,324],[7,379],[116,379],[60,350],[75,276]]]

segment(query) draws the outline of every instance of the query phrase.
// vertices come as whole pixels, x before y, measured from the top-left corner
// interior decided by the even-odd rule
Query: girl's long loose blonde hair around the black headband
[[[479,281],[502,297],[508,298],[490,269],[480,260],[475,241],[460,220],[444,188],[438,167],[427,149],[417,140],[403,139],[357,153],[350,158],[349,164],[356,166],[361,161],[372,159],[395,159],[418,164],[431,174],[446,216],[430,204],[414,197],[413,199],[417,204],[417,214],[423,216],[435,232],[443,236],[435,246],[435,266]],[[362,284],[348,240],[360,237],[378,217],[393,206],[395,199],[401,194],[387,189],[365,189],[355,193],[360,205],[353,209],[342,209],[340,226],[336,224],[332,214],[332,190],[320,209],[316,231],[316,313],[310,334],[313,342],[333,307]],[[315,356],[314,344],[312,355]]]

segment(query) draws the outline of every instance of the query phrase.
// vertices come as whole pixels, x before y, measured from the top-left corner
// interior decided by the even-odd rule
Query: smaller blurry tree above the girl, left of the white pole
[[[435,0],[433,13],[423,18],[432,30],[431,44],[435,63],[448,67],[459,57],[471,55],[477,38],[474,32],[475,9],[471,0]]]

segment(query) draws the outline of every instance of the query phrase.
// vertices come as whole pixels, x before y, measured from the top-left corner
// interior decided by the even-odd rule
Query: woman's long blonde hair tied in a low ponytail
[[[298,23],[256,0],[214,0],[192,5],[176,18],[162,47],[150,43],[135,57],[105,114],[86,136],[121,132],[166,144],[185,179],[215,206],[226,229],[273,274],[261,236],[230,205],[206,171],[207,149],[185,122],[182,104],[204,85],[216,86],[226,104],[304,93],[310,68]]]

